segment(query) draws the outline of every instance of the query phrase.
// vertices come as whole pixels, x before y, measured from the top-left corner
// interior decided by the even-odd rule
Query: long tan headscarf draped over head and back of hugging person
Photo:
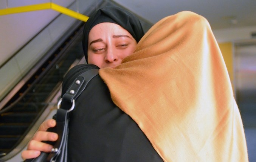
[[[164,161],[248,161],[230,78],[202,16],[163,18],[121,65],[99,73]]]

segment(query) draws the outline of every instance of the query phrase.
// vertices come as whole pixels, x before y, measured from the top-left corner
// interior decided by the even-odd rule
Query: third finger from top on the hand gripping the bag
[[[28,148],[27,150],[31,150],[31,151],[43,151],[43,152],[50,152],[51,149],[53,148],[52,145],[43,143],[43,142],[39,142],[39,141],[35,141],[35,140],[31,140],[28,143]]]

